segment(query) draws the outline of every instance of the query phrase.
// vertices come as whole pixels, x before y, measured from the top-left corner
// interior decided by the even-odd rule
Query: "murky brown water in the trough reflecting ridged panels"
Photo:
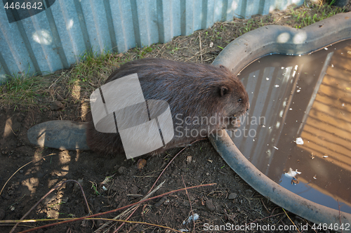
[[[244,156],[301,197],[351,213],[351,41],[270,55],[239,77],[251,109],[232,139]],[[284,175],[289,168],[298,182]]]

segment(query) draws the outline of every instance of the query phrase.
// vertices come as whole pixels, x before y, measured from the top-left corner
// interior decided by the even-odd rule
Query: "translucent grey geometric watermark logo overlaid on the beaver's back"
[[[174,136],[168,103],[145,100],[138,74],[101,86],[91,94],[90,102],[95,129],[119,132],[127,159],[164,147]]]

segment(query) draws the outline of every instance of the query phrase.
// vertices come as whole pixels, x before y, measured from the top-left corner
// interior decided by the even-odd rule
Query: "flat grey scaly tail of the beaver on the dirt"
[[[86,122],[46,121],[27,131],[29,142],[41,147],[88,150]]]

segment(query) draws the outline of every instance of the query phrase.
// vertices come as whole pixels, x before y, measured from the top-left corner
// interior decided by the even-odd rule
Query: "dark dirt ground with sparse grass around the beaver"
[[[350,11],[350,8],[349,4],[346,11]],[[293,11],[307,12],[306,15],[312,16],[322,14],[318,6],[312,4],[305,4]],[[289,9],[265,16],[257,15],[251,20],[218,22],[209,29],[194,32],[191,36],[178,36],[167,44],[133,48],[125,54],[110,54],[102,65],[104,68],[94,71],[91,74],[93,78],[88,80],[79,78],[79,75],[74,73],[77,70],[74,67],[55,72],[45,76],[50,85],[40,91],[41,95],[36,97],[35,104],[28,104],[25,100],[6,102],[4,95],[11,90],[6,86],[1,87],[1,98],[4,101],[1,101],[0,106],[0,189],[4,189],[1,190],[0,196],[0,220],[19,220],[51,188],[65,180],[76,180],[81,184],[93,214],[112,211],[145,197],[161,171],[182,148],[171,149],[153,157],[137,158],[134,161],[126,160],[124,154],[101,157],[91,151],[35,147],[27,140],[28,128],[50,120],[85,121],[91,91],[102,85],[112,69],[126,60],[159,57],[211,63],[222,48],[251,29],[273,24],[289,27],[303,25],[303,21],[299,21],[293,11]],[[79,88],[77,83],[73,86],[72,81],[67,81],[73,74],[80,80]],[[55,109],[54,101],[60,101],[62,108]],[[146,162],[145,166],[143,162]],[[157,185],[161,182],[164,182],[163,185],[151,197],[184,187],[216,184],[195,187],[187,192],[173,192],[145,201],[133,214],[129,211],[120,215],[124,211],[122,210],[100,217],[113,219],[120,215],[117,219],[126,220],[131,215],[128,221],[133,223],[124,224],[119,232],[172,232],[171,229],[186,229],[189,232],[205,232],[206,229],[210,232],[230,232],[229,229],[215,229],[220,225],[229,224],[235,227],[251,223],[261,227],[313,225],[312,222],[285,211],[258,194],[225,164],[207,139],[195,142],[183,150],[166,168]],[[199,215],[199,219],[187,222],[195,213]],[[88,208],[81,189],[79,185],[69,181],[35,206],[25,219],[72,219],[86,215]],[[15,232],[52,222],[55,221],[23,222]],[[95,232],[104,222],[107,221],[76,220],[37,229],[36,232]],[[99,232],[114,232],[120,225],[121,222],[110,223]],[[12,226],[11,223],[2,223],[0,232],[10,232]],[[239,232],[274,231],[246,228]],[[298,231],[291,229],[285,232]],[[330,231],[314,231],[309,227],[304,232]]]

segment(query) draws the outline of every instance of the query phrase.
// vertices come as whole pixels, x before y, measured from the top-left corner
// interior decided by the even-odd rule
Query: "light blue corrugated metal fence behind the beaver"
[[[120,53],[135,46],[164,43],[174,36],[211,27],[214,22],[265,15],[291,4],[303,4],[303,0],[3,0],[3,3],[0,83],[6,80],[6,74],[67,69],[86,51],[97,55],[107,50]]]

